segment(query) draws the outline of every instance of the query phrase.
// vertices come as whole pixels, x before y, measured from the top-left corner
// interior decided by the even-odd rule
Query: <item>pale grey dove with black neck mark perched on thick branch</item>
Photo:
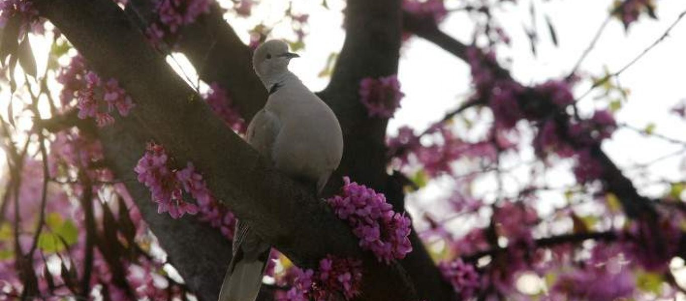
[[[333,110],[288,70],[298,57],[282,40],[268,40],[253,53],[252,67],[269,97],[248,125],[246,139],[276,169],[319,194],[343,156],[343,135]],[[220,301],[257,298],[270,249],[250,225],[237,221]]]

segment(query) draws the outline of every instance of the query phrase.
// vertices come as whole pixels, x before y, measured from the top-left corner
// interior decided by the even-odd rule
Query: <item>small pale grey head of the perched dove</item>
[[[298,57],[296,53],[288,52],[288,45],[283,40],[268,40],[252,54],[252,67],[268,86],[288,71],[288,62],[292,58]]]

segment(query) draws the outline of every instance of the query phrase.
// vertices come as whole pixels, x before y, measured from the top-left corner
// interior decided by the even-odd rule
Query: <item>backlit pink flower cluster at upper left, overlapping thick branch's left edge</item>
[[[115,108],[119,115],[127,116],[134,107],[131,97],[126,95],[117,80],[110,78],[103,83],[95,72],[86,68],[82,56],[72,58],[69,66],[60,71],[57,81],[64,86],[60,93],[62,106],[69,106],[73,99],[77,99],[79,118],[93,117],[98,126],[115,122],[110,115]],[[106,111],[100,108],[101,104],[106,104]]]

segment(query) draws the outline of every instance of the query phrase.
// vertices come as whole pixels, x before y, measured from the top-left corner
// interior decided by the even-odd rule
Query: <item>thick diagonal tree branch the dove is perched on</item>
[[[265,160],[226,128],[224,123],[198,99],[198,96],[147,45],[143,34],[126,19],[110,0],[37,0],[41,14],[60,28],[70,42],[103,77],[115,77],[135,99],[132,116],[101,131],[119,174],[130,176],[134,163],[143,154],[144,143],[154,139],[165,145],[178,162],[193,162],[204,174],[209,188],[235,214],[251,224],[262,239],[272,243],[296,264],[313,266],[326,254],[353,256],[364,261],[361,300],[415,300],[414,289],[398,265],[378,263],[362,252],[357,239],[343,221],[335,218],[326,204],[316,200],[305,187],[270,167]],[[117,136],[124,135],[126,136]],[[125,152],[117,152],[119,149]],[[115,151],[116,153],[114,153]],[[143,190],[136,182],[127,182],[131,191]],[[134,192],[143,195],[145,192]],[[150,205],[141,211],[150,210]],[[152,215],[146,214],[146,217]],[[171,250],[187,245],[178,240],[174,226],[158,215],[148,220],[157,225],[156,234],[163,248]],[[162,228],[161,225],[171,227]],[[164,227],[163,226],[163,227]],[[198,234],[203,231],[198,228]],[[220,243],[202,243],[213,247]],[[195,259],[207,266],[226,265],[217,257],[198,258],[199,245],[176,252],[172,262]],[[170,256],[174,256],[171,254]],[[184,258],[185,257],[185,258]],[[188,257],[191,257],[189,259]],[[180,267],[183,269],[184,267]],[[192,267],[186,267],[192,269]],[[198,272],[199,268],[191,272]],[[182,272],[188,276],[189,272]],[[222,273],[223,274],[223,273]],[[189,287],[198,293],[216,296],[216,275],[194,274]],[[206,280],[205,283],[200,283]],[[205,290],[201,286],[206,286]],[[207,299],[209,300],[209,299]]]

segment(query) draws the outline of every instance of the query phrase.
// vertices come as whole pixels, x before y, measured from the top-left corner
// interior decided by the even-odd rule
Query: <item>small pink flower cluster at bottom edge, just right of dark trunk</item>
[[[453,289],[460,294],[462,300],[469,300],[481,287],[479,274],[474,265],[464,263],[461,258],[450,263],[442,262],[438,268],[443,277],[453,286]]]

